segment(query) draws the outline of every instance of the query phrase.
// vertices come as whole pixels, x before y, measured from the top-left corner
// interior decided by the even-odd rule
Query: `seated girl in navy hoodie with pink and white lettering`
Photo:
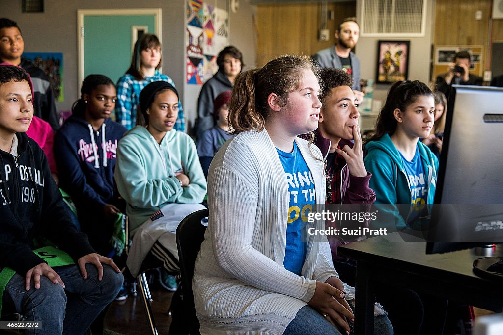
[[[60,186],[72,197],[82,231],[102,253],[112,250],[109,240],[120,212],[114,191],[117,144],[126,128],[110,120],[117,90],[108,77],[91,74],[83,82],[72,116],[55,136],[54,154]]]

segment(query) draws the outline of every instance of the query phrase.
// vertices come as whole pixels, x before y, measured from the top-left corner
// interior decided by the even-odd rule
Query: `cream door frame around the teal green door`
[[[77,10],[77,87],[84,80],[84,17],[108,15],[153,15],[155,20],[155,35],[162,41],[162,10],[160,8],[142,9],[112,9],[112,10]]]

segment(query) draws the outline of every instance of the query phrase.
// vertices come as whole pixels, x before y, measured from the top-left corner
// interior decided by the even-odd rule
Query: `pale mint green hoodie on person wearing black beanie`
[[[179,173],[189,177],[182,187]],[[173,129],[158,144],[148,130],[136,126],[119,142],[115,180],[126,200],[130,230],[145,222],[167,203],[200,203],[206,195],[206,178],[196,145],[185,133]]]

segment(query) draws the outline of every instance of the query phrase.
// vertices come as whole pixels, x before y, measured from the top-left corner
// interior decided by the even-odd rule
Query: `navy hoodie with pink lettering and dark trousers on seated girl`
[[[111,252],[115,215],[106,215],[105,205],[120,207],[114,191],[117,146],[126,128],[105,119],[98,131],[82,117],[72,115],[54,138],[54,156],[59,171],[59,186],[77,207],[82,231],[95,250]]]

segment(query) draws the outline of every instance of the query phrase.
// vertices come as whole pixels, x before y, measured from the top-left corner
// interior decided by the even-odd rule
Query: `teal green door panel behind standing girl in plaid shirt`
[[[86,15],[83,22],[84,78],[104,74],[114,83],[131,63],[133,27],[146,26],[149,34],[156,33],[154,15]]]

